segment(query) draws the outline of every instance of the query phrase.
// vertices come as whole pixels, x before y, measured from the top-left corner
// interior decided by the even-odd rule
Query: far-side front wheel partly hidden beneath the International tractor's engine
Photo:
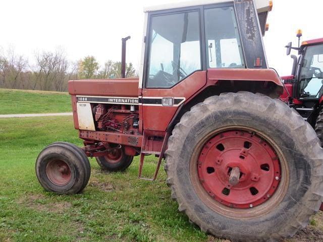
[[[111,150],[106,156],[95,157],[95,159],[103,170],[120,171],[128,168],[133,156],[126,155],[124,147],[121,147]]]

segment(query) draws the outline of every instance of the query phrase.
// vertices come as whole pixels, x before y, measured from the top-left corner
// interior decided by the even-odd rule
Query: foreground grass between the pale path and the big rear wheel
[[[35,160],[55,141],[81,145],[72,117],[3,118],[0,140],[0,241],[218,241],[178,212],[164,170],[154,183],[137,178],[137,158],[117,173],[102,172],[90,159],[82,194],[45,192]]]

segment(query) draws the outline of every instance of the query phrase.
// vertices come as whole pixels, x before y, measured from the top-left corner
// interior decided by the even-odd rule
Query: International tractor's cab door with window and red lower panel
[[[199,7],[148,15],[144,130],[165,131],[178,107],[205,85],[201,49]]]

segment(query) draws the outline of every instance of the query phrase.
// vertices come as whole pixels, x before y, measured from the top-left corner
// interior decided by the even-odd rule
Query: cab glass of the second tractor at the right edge
[[[300,97],[319,98],[322,96],[321,70],[323,70],[323,44],[308,46],[300,70]]]

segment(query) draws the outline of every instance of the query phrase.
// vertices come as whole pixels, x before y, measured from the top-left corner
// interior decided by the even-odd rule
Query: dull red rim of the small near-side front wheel
[[[63,160],[51,160],[46,166],[48,179],[57,186],[65,186],[71,180],[70,166]]]

